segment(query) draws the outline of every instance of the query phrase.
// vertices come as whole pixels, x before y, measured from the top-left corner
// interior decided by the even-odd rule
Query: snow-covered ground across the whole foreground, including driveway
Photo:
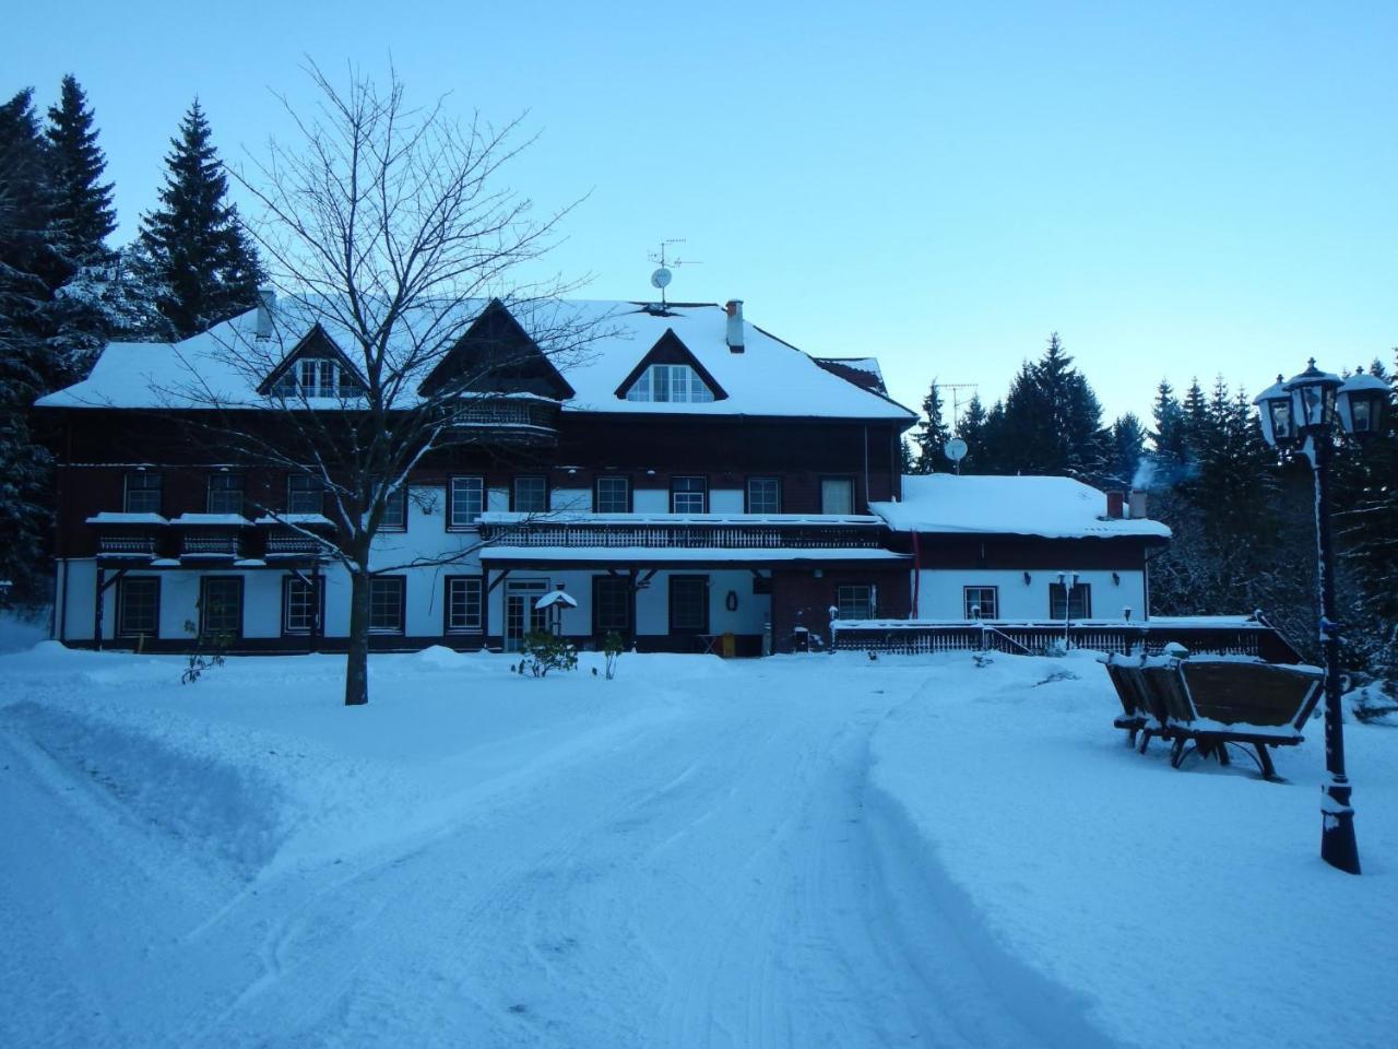
[[[0,656],[0,1045],[1387,1046],[1398,733],[1173,771],[1085,653]]]

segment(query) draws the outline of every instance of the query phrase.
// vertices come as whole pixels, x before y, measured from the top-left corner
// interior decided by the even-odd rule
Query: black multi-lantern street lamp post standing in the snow
[[[1359,873],[1355,810],[1345,775],[1345,725],[1339,702],[1339,629],[1335,622],[1334,545],[1329,534],[1329,462],[1336,425],[1360,439],[1378,432],[1388,404],[1388,386],[1374,375],[1356,372],[1341,379],[1316,368],[1314,358],[1300,375],[1268,386],[1253,401],[1262,438],[1281,450],[1297,450],[1316,481],[1316,547],[1320,580],[1318,636],[1325,653],[1325,771],[1323,787],[1321,859],[1348,874]]]

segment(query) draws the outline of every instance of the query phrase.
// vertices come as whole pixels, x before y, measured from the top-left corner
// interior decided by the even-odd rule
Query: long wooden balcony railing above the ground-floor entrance
[[[872,550],[879,529],[860,524],[744,524],[737,522],[481,523],[481,538],[505,547],[656,547],[664,550]]]

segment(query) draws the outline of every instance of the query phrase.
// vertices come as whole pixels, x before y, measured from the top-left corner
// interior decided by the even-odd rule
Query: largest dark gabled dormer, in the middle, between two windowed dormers
[[[573,387],[499,299],[481,312],[438,362],[419,392],[533,393],[568,400]]]

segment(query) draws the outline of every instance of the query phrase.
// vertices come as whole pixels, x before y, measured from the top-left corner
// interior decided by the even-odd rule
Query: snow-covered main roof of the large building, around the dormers
[[[424,308],[405,319],[417,331],[436,324],[464,330],[488,304],[461,301],[447,308]],[[916,414],[867,389],[842,379],[815,358],[744,322],[744,352],[727,344],[727,313],[719,305],[670,306],[663,313],[644,304],[559,301],[510,305],[512,315],[545,352],[561,343],[583,345],[561,351],[552,364],[573,389],[565,411],[621,415],[768,415],[911,422]],[[180,343],[109,343],[82,382],[39,400],[59,408],[259,408],[274,404],[257,393],[259,385],[320,323],[330,338],[358,359],[348,331],[336,324],[323,304],[284,299],[277,304],[271,338],[256,337],[257,311],[247,311]],[[726,397],[703,403],[630,401],[619,385],[665,334],[674,334],[713,376]],[[582,338],[579,338],[582,333]],[[407,343],[404,343],[404,347]],[[446,351],[446,345],[442,351]],[[393,350],[390,348],[390,354]],[[407,352],[404,348],[403,352]],[[398,407],[411,407],[417,387],[440,355],[414,365]],[[877,371],[868,358],[849,366]],[[350,401],[352,403],[352,401]],[[331,408],[333,397],[312,400]]]

